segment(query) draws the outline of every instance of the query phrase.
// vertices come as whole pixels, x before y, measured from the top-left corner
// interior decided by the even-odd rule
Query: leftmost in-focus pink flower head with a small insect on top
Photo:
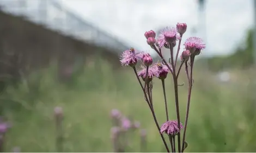
[[[134,48],[131,48],[123,52],[120,62],[121,65],[135,67],[139,59],[141,59],[141,54]]]

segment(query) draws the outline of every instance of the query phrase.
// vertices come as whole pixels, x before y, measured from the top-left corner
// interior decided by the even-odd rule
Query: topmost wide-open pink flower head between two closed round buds
[[[157,38],[157,43],[159,47],[162,48],[165,43],[169,45],[170,43],[175,42],[177,38],[179,39],[176,28],[166,27],[161,31],[161,34]]]

